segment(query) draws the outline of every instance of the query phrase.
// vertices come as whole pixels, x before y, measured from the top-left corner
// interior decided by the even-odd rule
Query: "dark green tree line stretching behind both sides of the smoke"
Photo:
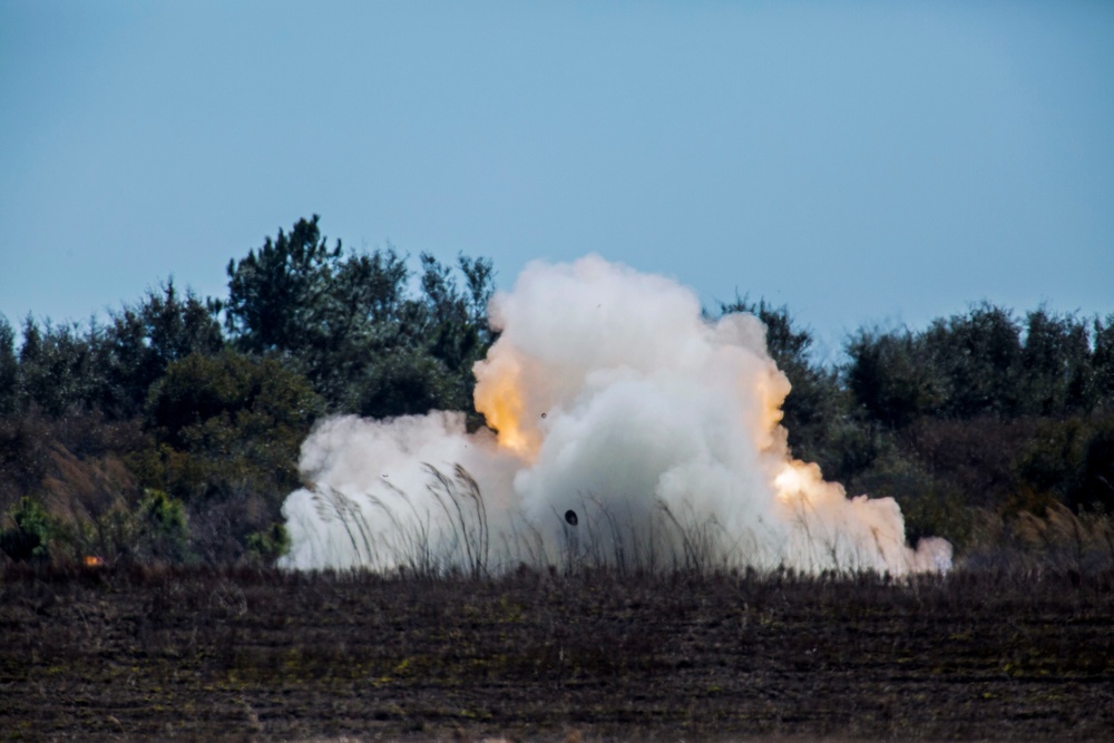
[[[227,275],[224,297],[168,280],[87,326],[0,317],[0,560],[271,563],[320,417],[483,426],[489,260],[422,254],[413,271],[391,247],[330,245],[313,216]],[[860,329],[829,364],[786,307],[716,309],[739,311],[792,383],[794,454],[850,495],[897,498],[911,537],[974,550],[987,524],[1114,510],[1114,315],[983,303]]]

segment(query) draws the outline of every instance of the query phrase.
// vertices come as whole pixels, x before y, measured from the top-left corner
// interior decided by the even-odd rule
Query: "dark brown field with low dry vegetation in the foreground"
[[[0,575],[0,740],[1111,740],[1114,574]]]

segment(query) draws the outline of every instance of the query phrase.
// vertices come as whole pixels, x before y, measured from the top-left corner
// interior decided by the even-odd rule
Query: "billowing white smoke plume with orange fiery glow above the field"
[[[497,433],[448,412],[324,421],[283,507],[287,566],[949,567],[944,540],[906,546],[892,499],[789,456],[790,384],[758,319],[710,321],[690,290],[597,256],[530,264],[490,312],[476,407]]]

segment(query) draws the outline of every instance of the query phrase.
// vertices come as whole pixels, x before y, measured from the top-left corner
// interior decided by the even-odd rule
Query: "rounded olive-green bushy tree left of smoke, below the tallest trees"
[[[276,359],[232,350],[175,361],[152,391],[157,446],[133,457],[141,485],[182,500],[193,549],[207,560],[242,556],[268,532],[297,487],[297,452],[322,402]]]

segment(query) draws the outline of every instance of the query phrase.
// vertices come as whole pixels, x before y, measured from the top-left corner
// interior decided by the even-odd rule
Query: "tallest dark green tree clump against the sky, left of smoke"
[[[471,407],[471,365],[491,342],[491,263],[459,256],[452,268],[420,256],[412,296],[393,248],[345,254],[321,236],[317,217],[280,231],[228,265],[223,305],[236,346],[303,372],[336,411],[371,417]]]

